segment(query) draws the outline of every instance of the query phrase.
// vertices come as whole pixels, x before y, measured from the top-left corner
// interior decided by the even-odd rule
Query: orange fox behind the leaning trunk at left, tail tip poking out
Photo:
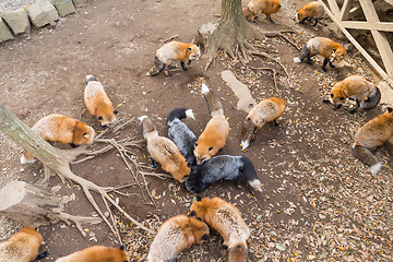
[[[73,147],[91,144],[94,139],[93,128],[76,119],[57,114],[41,118],[33,126],[32,130],[46,141],[71,144]],[[21,157],[21,164],[35,160],[29,152],[25,152]]]

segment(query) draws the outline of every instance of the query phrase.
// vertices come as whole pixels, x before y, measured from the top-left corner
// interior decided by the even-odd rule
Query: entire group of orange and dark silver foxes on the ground
[[[270,21],[272,13],[278,12],[281,8],[278,0],[251,0],[243,9],[245,16],[251,16],[251,21],[259,13],[264,13]],[[306,4],[297,12],[296,19],[300,23],[318,17],[322,14],[323,7],[319,2]],[[306,57],[310,58],[321,55],[325,59],[322,70],[326,70],[327,63],[334,67],[333,62],[341,62],[345,56],[345,49],[337,43],[324,38],[314,37],[310,39],[300,53],[294,58],[295,62],[301,62]],[[180,61],[182,70],[188,70],[192,60],[200,57],[198,45],[171,41],[164,45],[156,51],[154,67],[146,75],[158,74],[165,69],[165,74],[170,76],[170,64],[172,61]],[[226,144],[229,134],[229,124],[225,118],[224,109],[218,98],[205,85],[201,90],[210,112],[211,120],[199,138],[187,127],[181,119],[194,118],[192,110],[176,108],[168,115],[168,136],[158,135],[153,121],[147,116],[139,119],[142,123],[143,138],[147,141],[147,151],[152,157],[152,164],[158,162],[162,168],[171,174],[174,179],[184,182],[188,191],[199,193],[210,184],[218,180],[236,180],[240,187],[241,178],[255,190],[262,191],[261,181],[255,169],[245,156],[216,155]],[[340,109],[345,99],[354,99],[356,107],[350,114],[355,114],[360,107],[370,109],[378,105],[381,99],[379,88],[360,75],[352,75],[334,84],[329,94],[329,99],[336,109]],[[117,122],[117,110],[104,91],[103,85],[92,75],[86,76],[84,102],[91,115],[95,116],[102,126],[112,127]],[[266,98],[255,105],[241,128],[241,148],[246,150],[253,140],[255,132],[265,122],[274,122],[282,117],[286,108],[283,98]],[[32,130],[44,140],[60,142],[78,146],[93,143],[94,130],[85,123],[62,115],[49,115],[40,119]],[[352,148],[354,155],[366,164],[373,174],[377,174],[382,164],[371,153],[371,150],[383,144],[393,136],[393,109],[370,120],[355,134],[355,143]],[[35,158],[29,152],[25,152],[21,163],[32,163]],[[206,240],[210,228],[218,231],[228,247],[228,261],[247,261],[248,249],[246,240],[250,231],[240,216],[238,210],[226,201],[213,198],[196,198],[190,210],[190,216],[177,215],[166,221],[151,245],[147,261],[176,261],[178,254],[193,243]],[[207,225],[209,226],[207,226]],[[48,252],[38,254],[38,248],[43,242],[41,235],[32,227],[24,227],[8,241],[0,243],[0,261],[28,262],[45,258]],[[112,261],[124,262],[129,257],[123,247],[107,248],[94,246],[56,262],[98,262]]]

